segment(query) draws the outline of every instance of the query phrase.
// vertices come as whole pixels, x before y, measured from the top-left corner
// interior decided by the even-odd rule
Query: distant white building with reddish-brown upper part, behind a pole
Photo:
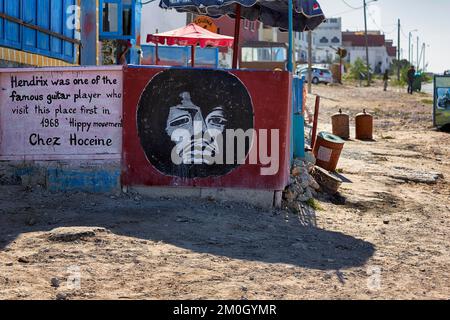
[[[366,38],[364,32],[346,31],[342,33],[342,45],[347,49],[346,61],[354,63],[358,58],[366,61]],[[368,32],[369,64],[375,73],[389,69],[396,58],[397,47],[392,40],[386,40],[380,31]]]

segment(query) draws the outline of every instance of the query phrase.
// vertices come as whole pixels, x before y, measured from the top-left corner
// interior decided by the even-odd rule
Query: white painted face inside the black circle
[[[215,107],[204,117],[189,92],[181,93],[180,97],[181,104],[169,110],[166,133],[175,142],[184,164],[209,164],[209,158],[221,152],[218,140],[227,123],[223,107]]]

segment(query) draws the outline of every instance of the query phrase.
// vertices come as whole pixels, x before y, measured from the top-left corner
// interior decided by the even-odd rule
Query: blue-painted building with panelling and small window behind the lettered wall
[[[0,67],[98,65],[104,42],[138,63],[141,0],[0,0]]]

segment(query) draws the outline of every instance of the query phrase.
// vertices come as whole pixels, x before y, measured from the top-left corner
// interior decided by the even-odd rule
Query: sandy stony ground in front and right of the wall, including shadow
[[[346,143],[341,196],[315,215],[0,186],[0,299],[449,299],[450,135],[430,97],[314,93],[321,129],[339,107],[376,124]]]

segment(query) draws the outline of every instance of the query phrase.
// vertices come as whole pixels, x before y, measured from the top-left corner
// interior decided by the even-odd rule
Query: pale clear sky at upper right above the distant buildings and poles
[[[318,1],[327,17],[342,17],[343,30],[364,30],[363,0]],[[441,73],[450,69],[450,0],[378,0],[370,3],[368,8],[368,29],[381,29],[395,44],[397,19],[400,19],[404,58],[408,58],[408,33],[417,29],[413,33],[414,60],[419,36],[420,48],[423,42],[429,46],[425,51],[427,70]]]

